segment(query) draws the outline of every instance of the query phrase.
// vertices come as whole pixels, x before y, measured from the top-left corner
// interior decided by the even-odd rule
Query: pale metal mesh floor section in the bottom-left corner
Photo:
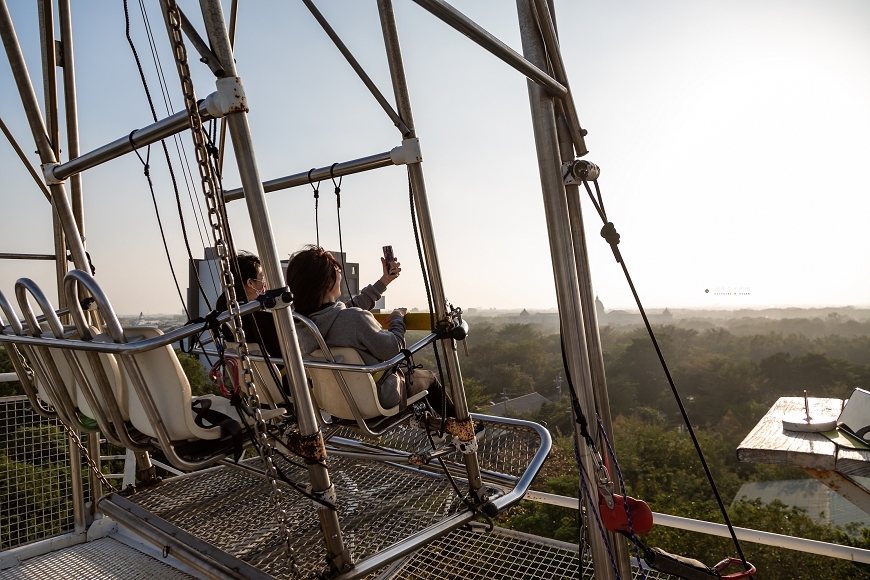
[[[0,571],[3,580],[193,580],[193,576],[167,566],[112,538],[71,546],[25,560]]]

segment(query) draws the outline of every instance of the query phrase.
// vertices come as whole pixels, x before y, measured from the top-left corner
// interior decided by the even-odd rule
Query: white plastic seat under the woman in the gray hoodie
[[[333,358],[345,364],[365,364],[357,352],[353,348],[348,347],[333,347],[329,351]],[[315,350],[311,353],[312,357],[325,360],[324,353],[321,350]],[[339,419],[355,420],[353,412],[347,403],[344,392],[338,384],[338,379],[335,372],[326,369],[306,368],[309,377],[311,378],[312,386],[314,387],[314,399],[321,409]],[[362,414],[363,419],[374,419],[375,417],[392,417],[399,412],[399,405],[385,409],[381,406],[378,400],[378,386],[375,384],[374,378],[369,373],[340,371],[347,383],[348,389],[353,395],[353,400],[357,408]],[[422,391],[408,397],[408,404],[415,403],[428,394],[428,391]]]

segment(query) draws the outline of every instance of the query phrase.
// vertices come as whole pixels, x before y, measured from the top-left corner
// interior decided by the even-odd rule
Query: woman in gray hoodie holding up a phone
[[[380,280],[363,288],[359,295],[346,304],[337,301],[341,296],[341,264],[323,248],[306,246],[290,257],[287,266],[287,285],[293,293],[296,312],[307,316],[317,325],[327,345],[354,348],[369,365],[391,359],[405,348],[404,318],[407,309],[393,310],[387,330],[381,328],[370,312],[387,286],[402,272],[402,266],[395,258],[391,264],[381,258],[381,266],[383,275]],[[297,330],[303,354],[315,350],[316,343],[310,333],[301,331],[299,325]],[[308,345],[314,348],[306,348]],[[429,403],[440,413],[444,391],[435,373],[414,370],[411,380],[407,379],[400,370],[379,381],[378,400],[381,406],[389,409],[398,405],[402,400],[402,389],[407,397],[428,390]],[[455,416],[449,399],[447,414]]]

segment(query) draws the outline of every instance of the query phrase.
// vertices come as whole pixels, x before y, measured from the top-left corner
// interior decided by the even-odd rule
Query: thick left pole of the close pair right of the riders
[[[547,63],[546,52],[538,33],[533,7],[529,4],[529,0],[517,0],[517,13],[523,54],[533,64],[545,67]],[[553,99],[540,86],[529,82],[528,89],[565,358],[568,363],[568,372],[571,373],[573,388],[578,391],[576,395],[579,398],[581,410],[590,421],[590,435],[593,441],[597,442],[595,398],[592,393],[586,337],[581,327],[583,311],[580,305],[580,290],[577,285],[571,225],[568,222],[568,204],[565,197],[565,187],[562,183],[554,103]],[[616,575],[610,566],[607,546],[600,534],[597,533],[593,523],[599,516],[595,465],[586,441],[580,435],[579,426],[576,424],[574,431],[577,447],[580,450],[580,462],[587,476],[587,485],[593,494],[592,497],[584,494],[584,500],[586,501],[587,519],[592,526],[589,533],[589,544],[595,563],[595,578],[615,580]],[[630,578],[630,576],[627,577]]]

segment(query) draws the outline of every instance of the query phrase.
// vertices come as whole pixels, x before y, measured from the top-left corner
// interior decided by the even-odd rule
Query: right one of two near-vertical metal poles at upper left
[[[63,108],[66,117],[67,159],[79,156],[79,113],[76,99],[76,72],[72,38],[72,12],[70,0],[58,0],[60,11],[60,45],[63,60]],[[58,157],[60,158],[60,157]],[[82,197],[82,176],[75,174],[69,180],[73,217],[82,238],[85,237],[85,208]]]

